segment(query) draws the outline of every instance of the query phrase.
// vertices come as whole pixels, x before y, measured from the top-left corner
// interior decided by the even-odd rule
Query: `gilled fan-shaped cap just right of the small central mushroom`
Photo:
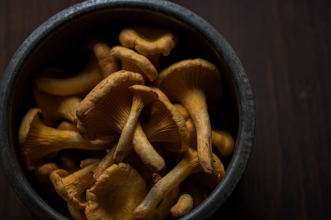
[[[190,134],[183,116],[159,88],[151,88],[159,98],[151,104],[149,122],[142,125],[148,140],[171,143],[161,145],[168,151],[186,151],[190,145]]]

